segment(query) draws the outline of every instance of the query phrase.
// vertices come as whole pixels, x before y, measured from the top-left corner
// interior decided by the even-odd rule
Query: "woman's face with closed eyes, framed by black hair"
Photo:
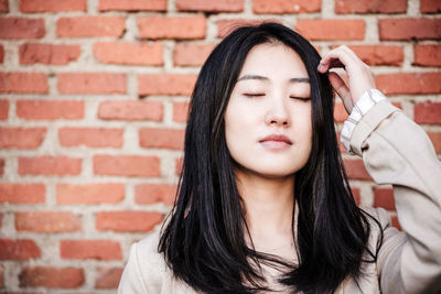
[[[225,112],[225,137],[238,171],[292,176],[312,144],[311,87],[299,54],[260,44],[248,54]]]

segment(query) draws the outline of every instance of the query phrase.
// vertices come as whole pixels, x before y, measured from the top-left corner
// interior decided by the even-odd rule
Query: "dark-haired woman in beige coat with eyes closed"
[[[354,203],[332,89],[344,145],[394,185],[405,232]],[[321,59],[280,24],[235,30],[202,67],[184,152],[174,209],[132,246],[120,293],[441,291],[440,162],[347,47]]]

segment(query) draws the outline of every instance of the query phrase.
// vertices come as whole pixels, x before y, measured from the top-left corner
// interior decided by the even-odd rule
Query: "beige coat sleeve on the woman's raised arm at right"
[[[377,260],[381,293],[441,293],[441,163],[429,137],[387,100],[374,104],[349,135],[351,152],[373,179],[392,185],[404,230],[377,209],[386,224]]]

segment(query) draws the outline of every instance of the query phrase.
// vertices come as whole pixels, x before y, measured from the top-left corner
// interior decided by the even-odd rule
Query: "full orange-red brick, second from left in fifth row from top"
[[[17,116],[31,120],[83,119],[84,101],[18,100]]]

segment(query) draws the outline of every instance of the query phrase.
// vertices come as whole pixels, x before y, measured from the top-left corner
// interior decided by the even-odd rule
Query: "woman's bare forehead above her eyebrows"
[[[308,77],[300,55],[283,44],[259,44],[252,47],[240,72],[243,75],[262,75],[272,78]]]

